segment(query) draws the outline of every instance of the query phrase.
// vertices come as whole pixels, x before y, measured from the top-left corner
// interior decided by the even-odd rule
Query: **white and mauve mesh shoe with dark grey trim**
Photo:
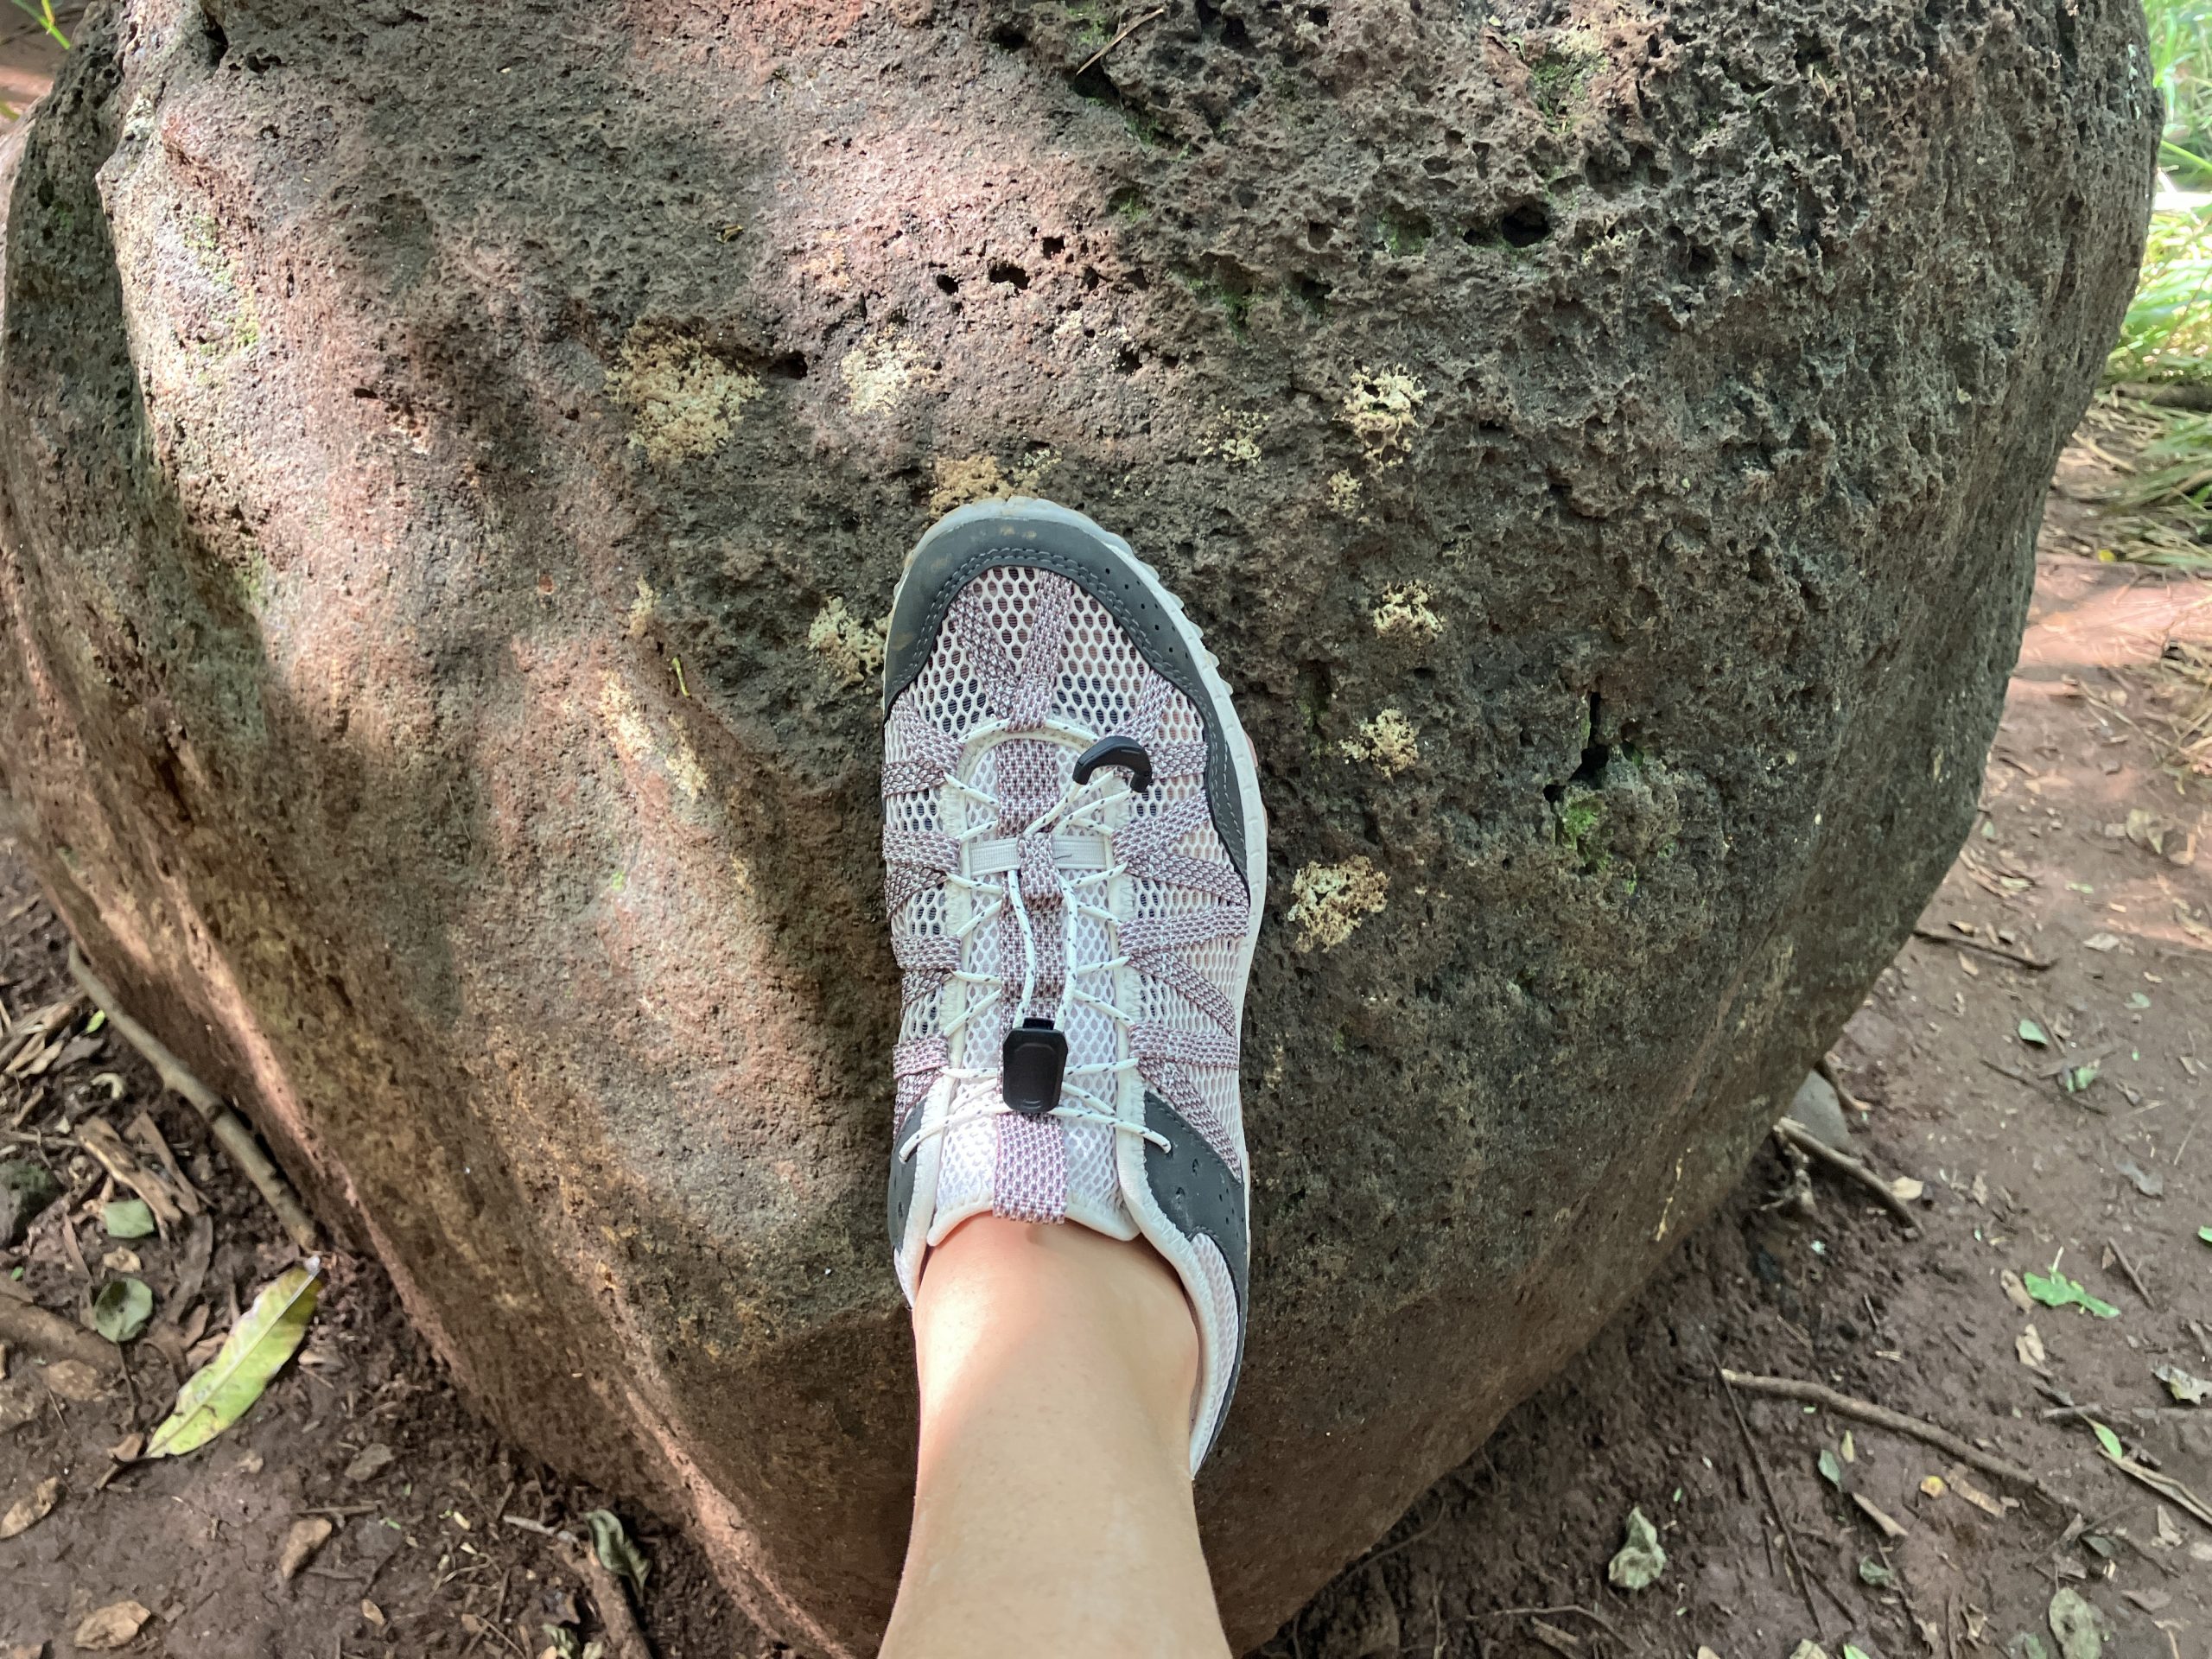
[[[1243,1352],[1237,1037],[1267,883],[1228,686],[1128,542],[1009,500],[922,535],[883,690],[900,1285],[973,1214],[1150,1241],[1197,1314],[1197,1469]]]

